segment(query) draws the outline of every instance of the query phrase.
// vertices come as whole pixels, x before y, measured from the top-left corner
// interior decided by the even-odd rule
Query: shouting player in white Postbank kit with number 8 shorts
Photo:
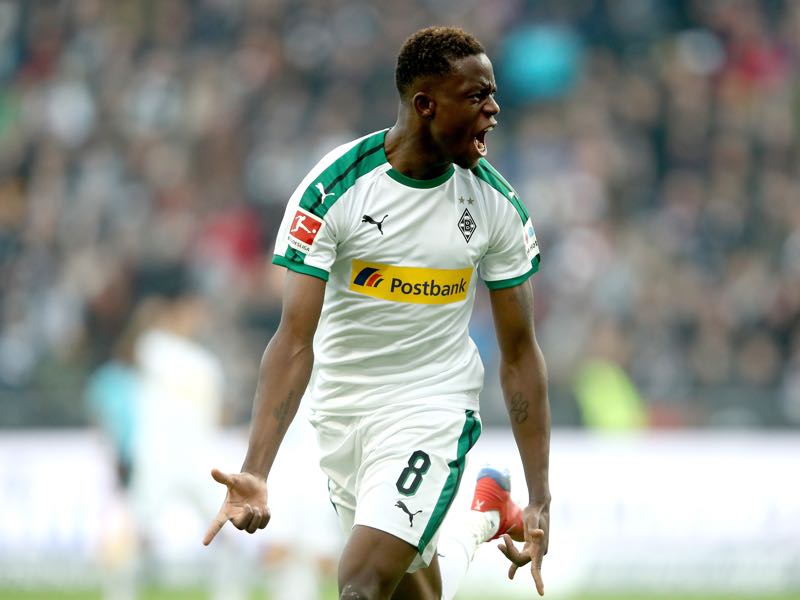
[[[550,414],[528,281],[539,250],[525,206],[485,159],[500,111],[492,64],[462,30],[430,27],[405,41],[395,78],[395,125],[330,152],[289,200],[273,257],[288,269],[281,322],[241,473],[212,471],[228,492],[204,543],[227,521],[266,526],[267,474],[305,394],[348,532],[341,598],[451,597],[474,548],[498,536],[509,576],[530,562],[543,594]],[[439,530],[481,429],[483,366],[468,333],[478,278],[528,504],[510,500],[507,476],[482,471],[470,517],[449,528],[460,536],[449,547],[464,551],[444,552]]]

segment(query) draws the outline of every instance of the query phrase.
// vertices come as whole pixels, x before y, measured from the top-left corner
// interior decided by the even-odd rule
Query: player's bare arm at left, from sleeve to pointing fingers
[[[281,322],[261,358],[242,471],[211,472],[228,492],[203,538],[206,545],[228,521],[248,533],[263,529],[269,522],[267,475],[311,376],[312,344],[324,295],[325,282],[321,279],[287,272]]]

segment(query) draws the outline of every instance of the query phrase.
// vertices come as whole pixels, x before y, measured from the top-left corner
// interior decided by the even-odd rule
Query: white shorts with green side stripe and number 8
[[[481,433],[478,413],[392,406],[359,416],[312,412],[310,421],[344,534],[354,525],[385,531],[417,548],[409,573],[427,567]]]

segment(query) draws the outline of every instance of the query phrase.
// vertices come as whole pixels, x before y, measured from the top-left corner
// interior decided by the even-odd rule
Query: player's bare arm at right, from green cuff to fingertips
[[[517,568],[530,562],[536,590],[544,595],[542,559],[550,534],[550,405],[547,370],[534,333],[531,284],[493,290],[491,302],[500,347],[500,383],[528,484],[528,505],[522,512],[522,551],[507,535],[500,550],[513,563],[508,571],[510,578]]]

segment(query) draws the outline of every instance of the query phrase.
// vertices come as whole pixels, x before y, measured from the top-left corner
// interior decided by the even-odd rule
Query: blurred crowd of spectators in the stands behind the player
[[[119,423],[138,337],[178,322],[246,423],[284,205],[394,123],[396,53],[430,24],[494,63],[554,425],[800,424],[790,0],[0,1],[0,424]],[[472,331],[499,425],[485,294]]]

